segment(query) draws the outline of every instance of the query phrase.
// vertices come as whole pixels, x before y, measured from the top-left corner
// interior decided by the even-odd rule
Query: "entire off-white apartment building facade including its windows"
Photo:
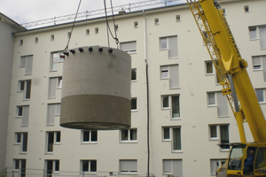
[[[266,1],[221,4],[265,112]],[[15,34],[8,175],[213,176],[229,152],[217,144],[239,142],[230,105],[187,4],[115,15],[115,24],[119,48],[132,58],[129,130],[59,126],[64,88],[59,53],[72,23]],[[110,43],[116,48],[113,39]],[[93,45],[108,45],[105,18],[75,23],[69,49]],[[253,141],[245,128],[247,141]]]

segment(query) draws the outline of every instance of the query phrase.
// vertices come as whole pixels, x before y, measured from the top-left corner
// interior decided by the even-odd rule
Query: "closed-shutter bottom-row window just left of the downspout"
[[[137,173],[137,160],[119,160],[120,173]]]

